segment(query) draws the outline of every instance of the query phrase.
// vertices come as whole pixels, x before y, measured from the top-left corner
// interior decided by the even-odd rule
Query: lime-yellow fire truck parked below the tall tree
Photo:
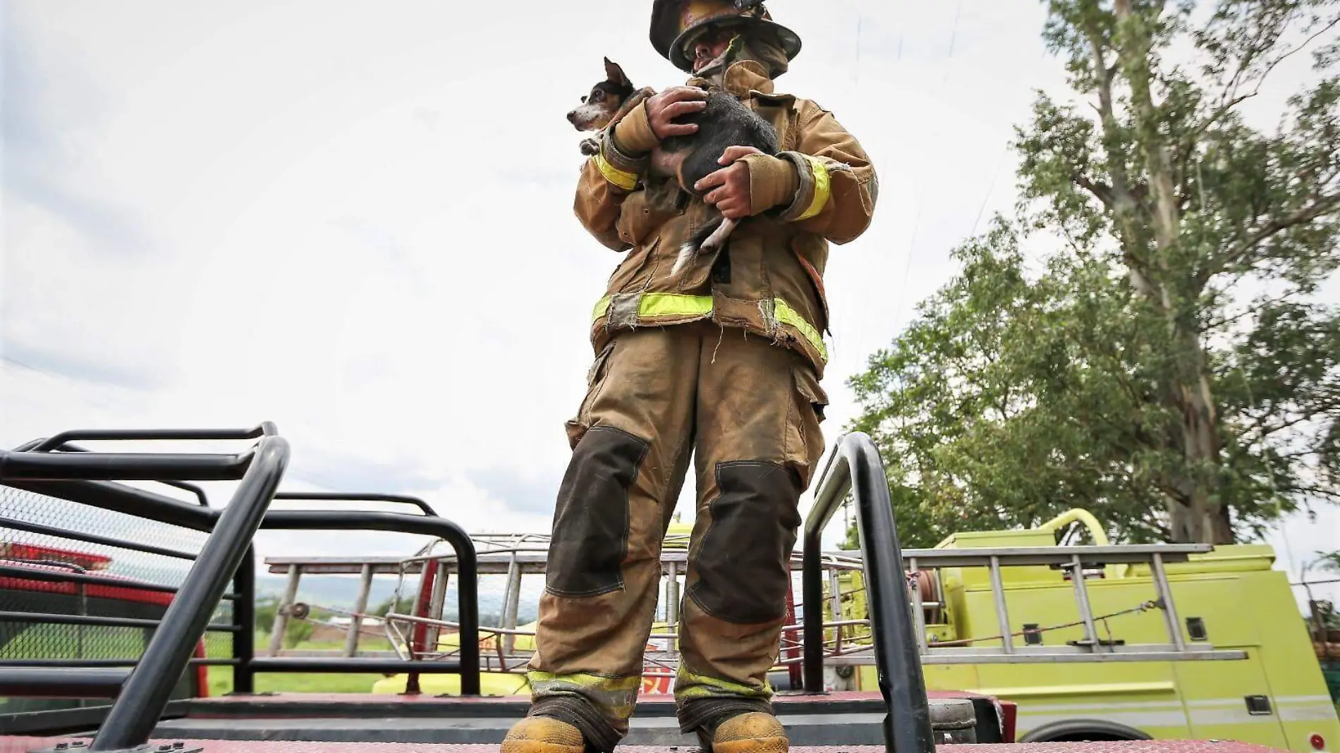
[[[1059,544],[1081,532],[1093,545]],[[1309,752],[1340,740],[1269,545],[1114,547],[1075,509],[903,555],[927,687],[1017,703],[1022,741],[1227,738]],[[859,568],[833,571],[825,618],[864,616],[863,584]],[[868,653],[854,624],[831,636],[842,654]],[[832,686],[876,687],[871,666],[843,670]]]

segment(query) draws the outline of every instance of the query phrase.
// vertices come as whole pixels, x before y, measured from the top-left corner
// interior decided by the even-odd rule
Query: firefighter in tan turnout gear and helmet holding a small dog
[[[679,610],[681,730],[717,753],[779,753],[766,675],[780,651],[799,500],[824,448],[829,244],[870,225],[878,180],[817,103],[775,90],[800,38],[761,3],[655,0],[651,44],[690,74],[600,135],[575,212],[623,255],[592,314],[595,360],[567,423],[532,691],[503,753],[608,752],[628,729],[661,579],[661,543],[694,458],[697,519]],[[702,90],[777,129],[776,155],[726,153],[690,200],[649,176]],[[748,217],[671,275],[712,216]]]

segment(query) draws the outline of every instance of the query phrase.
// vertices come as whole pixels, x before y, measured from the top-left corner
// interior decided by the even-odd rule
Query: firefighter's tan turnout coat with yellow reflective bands
[[[600,352],[619,330],[710,319],[797,350],[821,378],[828,358],[828,244],[855,240],[870,225],[879,193],[875,169],[832,113],[776,92],[758,63],[732,64],[722,82],[777,129],[779,157],[796,165],[800,178],[795,196],[744,221],[726,249],[698,255],[671,276],[679,245],[714,210],[673,181],[647,180],[646,158],[623,155],[611,143],[614,129],[607,130],[600,154],[582,167],[574,205],[591,234],[624,252],[592,314],[592,344]],[[750,169],[750,181],[768,177]],[[720,253],[729,259],[718,265]]]

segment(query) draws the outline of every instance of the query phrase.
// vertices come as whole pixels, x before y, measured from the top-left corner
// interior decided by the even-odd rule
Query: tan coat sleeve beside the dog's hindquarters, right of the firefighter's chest
[[[866,232],[875,213],[875,166],[832,113],[813,102],[801,103],[797,129],[795,150],[777,157],[796,166],[800,181],[777,218],[839,245],[851,243]]]

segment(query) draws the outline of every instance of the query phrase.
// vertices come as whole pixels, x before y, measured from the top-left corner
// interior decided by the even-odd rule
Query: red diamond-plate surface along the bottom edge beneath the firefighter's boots
[[[29,753],[51,748],[66,738],[0,737],[0,753]],[[497,753],[497,745],[417,745],[395,742],[261,742],[216,740],[154,740],[161,744],[185,742],[204,753]],[[619,753],[695,753],[695,748],[651,748],[626,745]],[[793,753],[884,753],[874,745],[792,748]],[[1164,740],[1154,742],[1032,742],[1018,745],[939,745],[937,753],[1270,753],[1277,748],[1230,741]]]

